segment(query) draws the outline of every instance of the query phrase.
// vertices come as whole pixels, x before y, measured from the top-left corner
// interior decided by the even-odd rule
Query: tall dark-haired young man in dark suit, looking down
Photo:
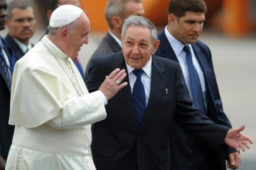
[[[188,45],[192,52],[193,65],[196,67],[200,79],[206,116],[214,123],[231,128],[230,121],[223,111],[210,49],[203,42],[197,40],[203,29],[206,11],[207,7],[203,0],[172,0],[169,3],[169,24],[158,35],[161,43],[155,54],[181,64],[186,85],[193,96],[188,60],[186,52],[183,50],[183,47]],[[214,151],[175,122],[171,126],[171,135],[174,136],[170,139],[171,153],[174,156],[171,157],[171,169],[226,169],[225,152]],[[230,160],[235,162],[233,165],[228,162],[228,166],[237,169],[240,164],[240,154],[232,148],[228,149],[226,154],[229,154]]]

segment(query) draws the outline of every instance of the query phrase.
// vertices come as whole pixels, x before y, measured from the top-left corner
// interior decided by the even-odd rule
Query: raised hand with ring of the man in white
[[[121,83],[127,76],[125,69],[114,69],[109,76],[106,77],[105,81],[100,86],[100,91],[105,95],[107,100],[110,100],[119,90],[127,86],[127,82]]]

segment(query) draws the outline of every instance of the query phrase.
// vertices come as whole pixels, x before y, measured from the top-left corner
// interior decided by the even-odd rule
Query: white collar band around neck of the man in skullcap
[[[53,42],[51,42],[49,40],[49,38],[47,36],[48,35],[45,35],[41,41],[43,42],[44,45],[47,46],[48,50],[50,50],[50,53],[52,53],[52,55],[54,55],[54,57],[56,57],[60,60],[68,59],[68,55],[66,55],[64,52],[62,52]]]

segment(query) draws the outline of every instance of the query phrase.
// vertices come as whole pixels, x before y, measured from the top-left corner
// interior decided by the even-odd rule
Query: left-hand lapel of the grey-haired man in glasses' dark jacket
[[[125,69],[127,72],[127,67],[126,64],[124,62],[124,55],[122,52],[117,52],[116,53],[117,56],[113,57],[113,60],[110,64],[110,69],[114,70],[114,69]],[[137,115],[134,109],[134,103],[132,101],[132,92],[131,92],[131,87],[129,86],[129,77],[127,75],[127,77],[124,78],[123,82],[127,82],[128,85],[125,86],[122,90],[120,90],[117,93],[117,96],[119,97],[122,105],[124,106],[125,111],[127,112],[127,114],[129,115],[129,118],[132,120],[132,123],[134,124],[134,126],[139,129],[139,124],[137,121]]]

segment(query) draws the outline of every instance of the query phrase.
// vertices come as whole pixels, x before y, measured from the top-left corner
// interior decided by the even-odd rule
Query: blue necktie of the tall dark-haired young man
[[[188,73],[191,83],[191,95],[193,98],[193,104],[195,108],[198,108],[201,113],[206,115],[206,106],[203,98],[202,86],[198,76],[198,72],[193,65],[191,49],[188,45],[185,45],[183,50],[186,52],[186,60],[188,63]]]

